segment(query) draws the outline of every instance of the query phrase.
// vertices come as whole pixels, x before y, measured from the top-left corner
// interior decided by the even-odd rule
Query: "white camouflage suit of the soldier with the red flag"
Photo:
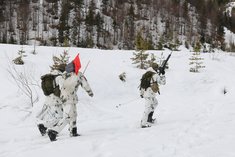
[[[60,84],[62,84],[60,97],[63,102],[63,119],[61,119],[55,126],[51,127],[50,130],[54,130],[59,133],[67,124],[69,124],[69,131],[71,135],[72,129],[76,128],[76,104],[78,103],[77,90],[79,85],[81,85],[91,97],[93,96],[93,92],[87,82],[87,79],[81,72],[79,72],[78,75],[74,72],[67,73],[63,80],[61,80]]]

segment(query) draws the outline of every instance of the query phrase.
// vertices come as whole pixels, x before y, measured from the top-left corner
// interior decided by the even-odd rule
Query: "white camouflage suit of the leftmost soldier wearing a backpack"
[[[58,70],[50,72],[52,75],[62,74]],[[55,78],[55,84],[59,85],[59,80],[62,76]],[[37,115],[37,124],[43,124],[46,128],[53,127],[63,117],[62,100],[60,97],[55,96],[53,93],[46,96],[44,105],[41,112]]]

